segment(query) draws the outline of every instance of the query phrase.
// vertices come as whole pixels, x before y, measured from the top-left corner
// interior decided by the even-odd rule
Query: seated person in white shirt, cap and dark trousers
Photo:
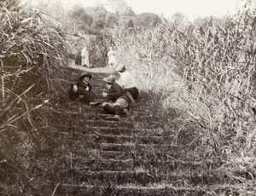
[[[132,95],[132,103],[135,105],[135,100],[137,99],[139,93],[136,87],[135,79],[131,75],[131,72],[126,70],[123,63],[119,64],[116,71],[118,72],[118,76],[116,77],[115,82],[123,88],[125,94],[129,92]]]

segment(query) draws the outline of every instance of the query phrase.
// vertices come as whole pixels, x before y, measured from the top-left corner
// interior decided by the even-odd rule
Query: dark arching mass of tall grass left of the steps
[[[49,123],[45,105],[58,100],[56,89],[64,90],[59,78],[67,65],[66,45],[51,20],[16,0],[0,2],[0,26],[0,164],[6,169],[0,170],[0,193],[19,195],[37,189],[32,159],[45,147],[37,130]]]

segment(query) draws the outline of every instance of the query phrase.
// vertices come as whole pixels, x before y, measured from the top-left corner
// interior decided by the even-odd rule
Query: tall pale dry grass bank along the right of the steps
[[[150,95],[148,108],[165,119],[165,129],[189,135],[175,142],[195,148],[191,159],[223,160],[219,171],[244,182],[240,193],[256,175],[255,16],[246,5],[234,17],[200,26],[163,19],[144,32],[113,29],[119,59]]]

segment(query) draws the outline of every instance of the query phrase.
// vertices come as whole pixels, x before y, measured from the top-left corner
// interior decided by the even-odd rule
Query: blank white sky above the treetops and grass
[[[37,0],[23,0],[37,1]],[[84,7],[95,6],[97,2],[106,0],[60,0],[67,6],[74,3],[81,3]],[[256,2],[256,0],[253,0]],[[193,21],[197,17],[216,16],[222,17],[226,14],[236,14],[236,9],[241,8],[244,0],[125,0],[127,5],[136,14],[151,12],[163,14],[171,19],[172,14],[182,12],[189,20]]]

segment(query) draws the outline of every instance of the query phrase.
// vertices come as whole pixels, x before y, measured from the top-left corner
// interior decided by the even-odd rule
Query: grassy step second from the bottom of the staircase
[[[148,186],[154,183],[172,184],[175,186],[205,186],[213,182],[222,183],[224,179],[218,172],[208,170],[207,172],[179,172],[176,170],[153,170],[152,168],[135,168],[135,170],[67,170],[63,172],[63,182],[73,184],[90,185],[114,185],[137,184]]]

